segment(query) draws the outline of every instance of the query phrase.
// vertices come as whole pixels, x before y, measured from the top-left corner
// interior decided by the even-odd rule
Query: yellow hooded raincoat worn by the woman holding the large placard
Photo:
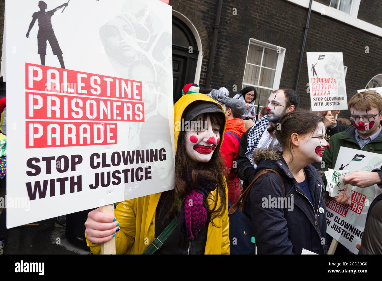
[[[175,127],[175,153],[178,143],[179,123],[185,108],[194,101],[214,102],[220,108],[222,106],[206,96],[205,94],[188,94],[181,97],[174,105],[174,122],[178,124]],[[223,108],[222,108],[223,109]],[[176,130],[178,129],[178,130]],[[225,126],[224,126],[225,130]],[[222,141],[224,130],[222,132]],[[215,152],[216,153],[216,152]],[[229,254],[230,238],[229,238],[229,221],[228,221],[228,191],[225,184],[226,193],[226,209],[222,216],[214,219],[215,226],[211,223],[208,225],[207,242],[205,254]],[[115,208],[115,218],[120,223],[120,231],[115,236],[115,248],[117,254],[141,254],[155,239],[155,209],[159,202],[161,193],[155,193],[139,198],[122,201]],[[210,192],[208,198],[217,195],[216,189]],[[218,197],[217,206],[220,204]],[[157,236],[159,233],[157,234]],[[85,234],[86,236],[86,234]],[[101,253],[101,245],[93,244],[86,239],[87,245],[91,247],[94,254]]]

